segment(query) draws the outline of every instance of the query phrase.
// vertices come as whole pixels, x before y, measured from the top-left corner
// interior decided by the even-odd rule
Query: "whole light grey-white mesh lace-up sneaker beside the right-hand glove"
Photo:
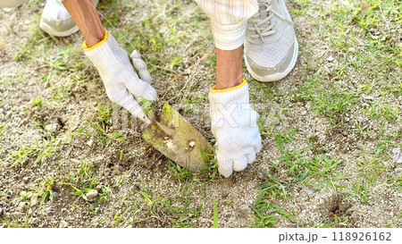
[[[259,11],[247,21],[244,58],[255,80],[276,81],[289,74],[298,46],[292,19],[283,0],[260,0]]]

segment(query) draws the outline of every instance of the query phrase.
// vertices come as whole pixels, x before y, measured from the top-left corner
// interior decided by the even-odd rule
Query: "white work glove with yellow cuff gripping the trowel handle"
[[[138,52],[134,50],[130,57],[141,79],[134,72],[126,51],[107,30],[102,41],[91,47],[84,42],[83,48],[104,81],[107,97],[141,121],[150,123],[137,100],[132,97],[134,95],[151,101],[157,98],[155,88],[150,85],[147,63],[141,60]]]

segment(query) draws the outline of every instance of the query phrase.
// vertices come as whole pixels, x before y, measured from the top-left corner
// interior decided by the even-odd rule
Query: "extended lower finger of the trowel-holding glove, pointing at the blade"
[[[134,117],[138,118],[142,122],[147,124],[151,123],[148,119],[147,115],[142,110],[141,106],[138,105],[138,102],[132,95],[125,89],[114,89],[114,90],[106,90],[107,97],[109,97],[113,103],[121,105],[126,110],[130,112]]]

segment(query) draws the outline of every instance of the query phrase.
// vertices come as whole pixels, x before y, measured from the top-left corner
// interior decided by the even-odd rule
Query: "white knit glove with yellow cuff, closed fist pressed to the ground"
[[[258,114],[249,103],[246,80],[234,88],[209,92],[211,128],[218,146],[218,170],[224,177],[255,161],[261,150]]]

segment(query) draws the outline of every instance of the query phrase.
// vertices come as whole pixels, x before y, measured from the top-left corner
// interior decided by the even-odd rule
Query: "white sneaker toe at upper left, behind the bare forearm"
[[[99,0],[94,0],[95,6]],[[54,37],[67,37],[79,31],[61,0],[47,0],[39,23],[40,29]]]

